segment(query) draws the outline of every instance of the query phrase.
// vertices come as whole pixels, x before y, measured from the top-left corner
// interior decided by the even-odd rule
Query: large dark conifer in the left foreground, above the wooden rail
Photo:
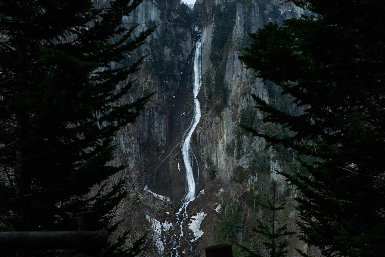
[[[152,29],[132,37],[134,28],[121,27],[141,0],[104,2],[95,8],[91,0],[0,1],[3,230],[77,230],[75,213],[85,210],[98,210],[106,228],[124,197],[122,182],[107,195],[84,195],[123,168],[107,164],[114,133],[134,121],[148,97],[116,104],[132,85],[120,82],[141,59],[130,67],[110,64]]]

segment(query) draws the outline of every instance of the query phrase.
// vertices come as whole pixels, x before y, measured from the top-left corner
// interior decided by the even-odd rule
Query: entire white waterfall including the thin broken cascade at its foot
[[[194,180],[194,174],[192,173],[192,161],[193,161],[192,157],[194,157],[195,160],[196,160],[196,157],[191,148],[191,136],[192,136],[192,133],[194,133],[194,130],[199,123],[199,120],[201,119],[201,104],[196,98],[198,96],[199,89],[201,89],[201,84],[202,84],[201,65],[202,65],[201,64],[201,42],[197,41],[195,46],[195,55],[194,55],[194,86],[192,88],[192,92],[194,94],[194,117],[192,118],[189,128],[187,128],[186,131],[184,132],[182,136],[182,143],[181,143],[182,158],[186,169],[187,193],[182,199],[182,202],[184,203],[176,213],[177,223],[179,223],[179,226],[181,228],[181,233],[179,234],[179,237],[178,237],[179,244],[176,245],[176,242],[174,242],[174,246],[173,246],[176,256],[179,255],[176,249],[181,246],[181,239],[183,237],[183,228],[182,228],[183,221],[187,220],[188,218],[186,208],[189,205],[189,203],[192,200],[194,200],[196,197],[195,180]],[[198,176],[199,176],[199,167],[198,167]],[[182,217],[180,217],[180,215],[182,215]],[[173,253],[171,253],[171,256],[173,256]]]

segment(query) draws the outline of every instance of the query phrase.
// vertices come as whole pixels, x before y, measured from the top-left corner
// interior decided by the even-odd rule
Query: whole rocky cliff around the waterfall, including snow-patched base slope
[[[231,240],[249,244],[242,239],[242,231],[246,233],[243,227],[245,223],[253,224],[256,218],[268,215],[256,207],[255,199],[271,199],[273,183],[277,185],[278,196],[284,198],[285,195],[288,199],[287,213],[282,220],[285,219],[291,229],[296,229],[293,225],[295,203],[291,200],[296,192],[275,172],[286,169],[288,165],[280,160],[276,149],[266,149],[263,139],[239,127],[250,117],[252,122],[246,125],[258,128],[268,126],[259,122],[263,114],[253,107],[251,94],[256,94],[266,102],[273,97],[272,86],[258,79],[238,59],[242,48],[250,42],[248,34],[256,32],[269,21],[281,24],[285,18],[303,14],[303,10],[291,3],[279,5],[277,2],[244,0],[228,3],[234,11],[229,12],[232,15],[229,19],[232,22],[231,31],[227,35],[220,61],[212,56],[215,48],[213,38],[219,32],[218,22],[226,22],[218,20],[213,11],[215,4],[221,6],[221,1],[215,1],[215,4],[213,1],[199,1],[194,6],[194,12],[188,10],[190,18],[182,18],[181,8],[184,6],[179,2],[144,0],[133,15],[123,20],[127,27],[138,24],[136,35],[148,27],[158,26],[148,44],[127,56],[127,62],[132,62],[140,55],[149,54],[137,74],[129,78],[137,79],[137,82],[130,96],[122,101],[133,101],[153,91],[156,94],[142,111],[137,123],[127,126],[115,138],[119,145],[117,160],[126,156],[129,167],[137,170],[134,176],[141,179],[136,186],[141,208],[137,210],[135,219],[147,224],[144,230],[152,231],[152,238],[147,244],[155,248],[147,252],[148,255],[168,253],[201,256],[204,247],[211,244]],[[210,10],[208,6],[211,6]],[[222,10],[220,8],[218,12]],[[204,14],[206,16],[202,14],[205,12],[208,13]],[[205,22],[202,23],[202,20]],[[180,201],[186,193],[180,143],[192,119],[191,64],[194,45],[199,39],[202,44],[202,72],[206,81],[211,80],[212,84],[204,79],[198,95],[202,118],[192,136],[192,148],[197,157],[194,167],[196,191],[201,193],[186,208],[187,218],[181,224],[183,215],[175,214],[182,213]],[[221,83],[218,77],[221,77]],[[223,87],[220,93],[216,89],[218,83]],[[254,206],[247,202],[247,197],[254,198]],[[237,226],[242,228],[239,227],[239,233],[234,232],[235,239],[229,237],[226,241],[223,234],[227,232],[223,232],[221,224],[226,222],[224,217],[229,208],[238,210],[238,206],[241,206],[241,225],[237,223]],[[237,213],[233,212],[233,215]],[[184,236],[178,239],[176,235],[181,230]],[[295,239],[290,244],[291,247],[306,248]]]

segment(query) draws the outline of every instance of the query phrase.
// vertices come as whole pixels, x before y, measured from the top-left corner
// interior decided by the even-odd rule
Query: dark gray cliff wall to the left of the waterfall
[[[123,19],[123,25],[127,28],[137,25],[132,37],[157,26],[147,43],[126,58],[126,62],[132,64],[139,57],[147,55],[139,71],[128,78],[136,79],[136,83],[129,96],[122,101],[132,102],[137,97],[156,92],[137,122],[119,131],[115,139],[118,152],[129,153],[129,165],[132,167],[143,161],[144,156],[151,158],[150,166],[154,165],[169,148],[175,133],[170,124],[176,116],[177,89],[181,84],[179,74],[185,71],[194,46],[191,29],[171,25],[161,9],[156,1],[144,0]]]

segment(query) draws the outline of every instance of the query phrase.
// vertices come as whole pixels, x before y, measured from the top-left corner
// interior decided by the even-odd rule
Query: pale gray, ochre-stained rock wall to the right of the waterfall
[[[271,1],[274,2],[274,1]],[[284,18],[298,16],[298,7],[294,5],[278,5],[279,15],[270,13],[264,7],[269,1],[251,1],[246,4],[236,3],[235,24],[231,32],[231,47],[227,53],[225,63],[224,79],[227,82],[228,102],[221,112],[215,113],[212,109],[206,112],[197,131],[198,147],[203,160],[209,158],[214,166],[218,168],[218,176],[222,181],[229,181],[233,176],[236,166],[246,168],[246,156],[237,155],[237,151],[246,153],[246,147],[260,151],[266,145],[263,139],[246,136],[239,133],[239,118],[241,110],[246,109],[249,104],[254,105],[251,94],[261,97],[269,102],[269,93],[264,82],[255,77],[255,72],[246,69],[246,66],[238,59],[243,53],[243,47],[249,42],[249,33],[255,33],[267,22],[274,20],[281,23]],[[277,12],[275,10],[275,12]],[[276,17],[278,16],[278,17]],[[202,54],[203,70],[215,72],[213,64],[209,59],[211,49],[211,37],[215,31],[214,23],[203,28],[202,42],[204,52]],[[262,114],[254,109],[256,118],[262,118]],[[238,149],[237,149],[238,146]],[[239,149],[239,146],[242,149]]]

